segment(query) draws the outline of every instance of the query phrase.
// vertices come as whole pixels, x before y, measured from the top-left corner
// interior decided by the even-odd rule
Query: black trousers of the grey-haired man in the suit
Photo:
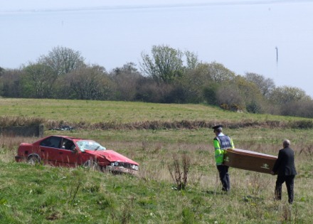
[[[277,176],[276,186],[275,186],[275,198],[277,200],[282,200],[282,183],[286,182],[288,202],[292,204],[294,199],[294,179],[295,175],[292,176]]]

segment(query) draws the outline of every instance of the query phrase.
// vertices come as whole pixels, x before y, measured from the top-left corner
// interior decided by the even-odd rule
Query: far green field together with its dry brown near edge
[[[78,129],[313,128],[312,119],[249,114],[208,105],[0,98],[0,126],[71,125]]]

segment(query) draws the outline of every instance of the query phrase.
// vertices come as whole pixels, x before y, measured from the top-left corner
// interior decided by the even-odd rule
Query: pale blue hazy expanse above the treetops
[[[309,0],[0,0],[0,67],[63,46],[110,71],[164,45],[313,97],[312,11]]]

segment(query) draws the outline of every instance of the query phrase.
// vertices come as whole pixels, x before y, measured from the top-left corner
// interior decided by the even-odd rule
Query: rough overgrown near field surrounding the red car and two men
[[[221,191],[207,129],[159,132],[76,132],[94,137],[140,163],[139,177],[114,176],[92,169],[31,166],[14,162],[16,147],[32,138],[1,137],[0,220],[4,223],[312,223],[312,156],[308,142],[313,134],[289,129],[229,129],[237,146],[277,154],[281,139],[291,139],[299,175],[295,203],[274,201],[275,176],[230,169],[232,190]],[[182,133],[180,133],[182,132]],[[51,132],[47,133],[51,134]],[[53,132],[64,134],[64,132]],[[72,133],[73,134],[73,133]],[[101,135],[103,134],[103,135]],[[181,134],[184,139],[181,138]],[[127,136],[132,135],[132,136]],[[240,137],[243,137],[240,139]],[[124,138],[124,140],[123,140]],[[195,139],[196,138],[196,139]],[[251,139],[253,138],[253,139]],[[264,139],[262,139],[264,138]],[[142,147],[142,139],[146,139]],[[177,142],[172,142],[176,139]],[[301,149],[303,149],[301,151]],[[188,185],[175,191],[168,165],[176,154],[190,156]],[[182,171],[182,169],[181,169]],[[27,175],[25,175],[27,174]],[[181,179],[183,181],[183,179]]]

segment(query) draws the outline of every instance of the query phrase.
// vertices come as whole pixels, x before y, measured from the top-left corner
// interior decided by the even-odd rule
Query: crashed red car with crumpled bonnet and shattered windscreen
[[[53,166],[92,166],[102,171],[137,174],[139,164],[90,139],[49,136],[18,146],[16,161]]]

